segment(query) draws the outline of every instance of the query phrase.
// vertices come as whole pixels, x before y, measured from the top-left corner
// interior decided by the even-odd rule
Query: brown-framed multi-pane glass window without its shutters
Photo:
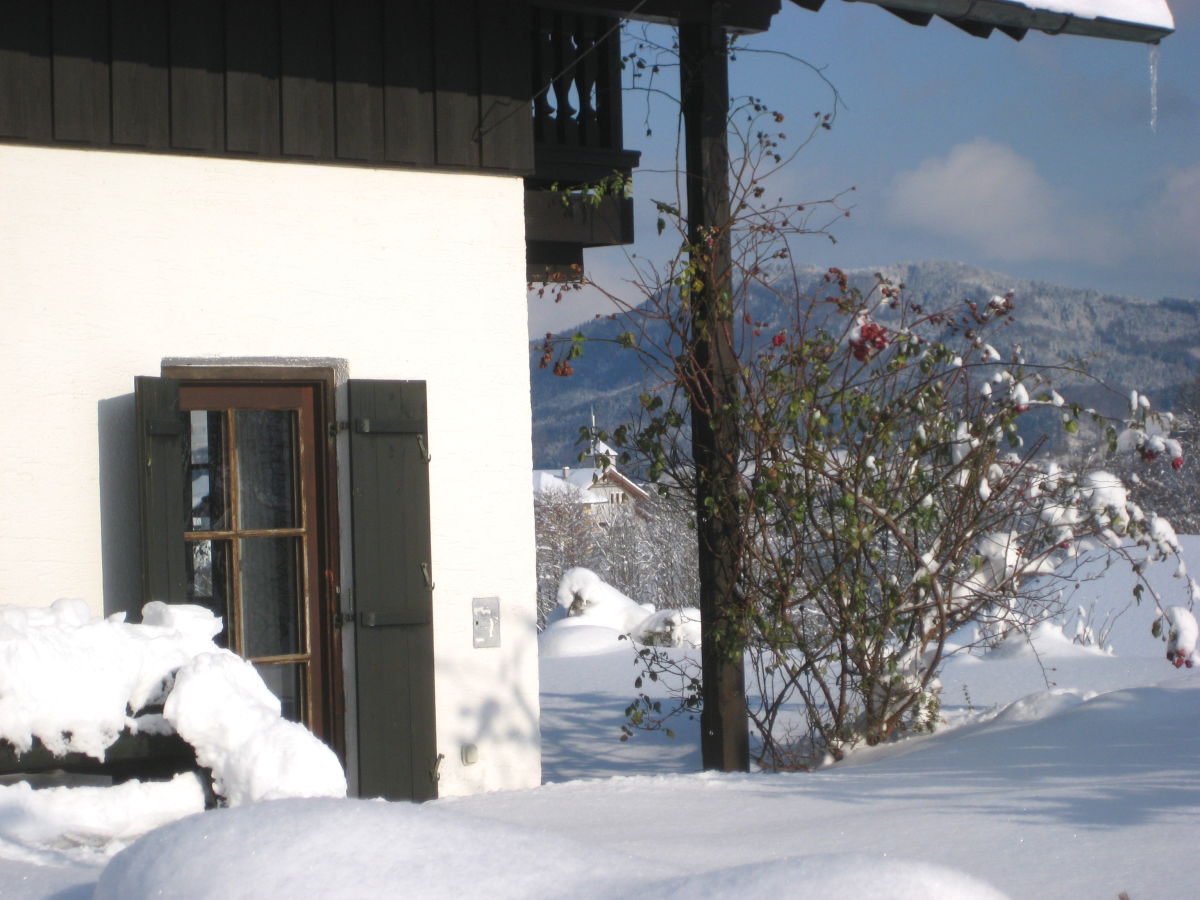
[[[224,620],[283,714],[322,731],[311,385],[181,385],[188,601]]]

